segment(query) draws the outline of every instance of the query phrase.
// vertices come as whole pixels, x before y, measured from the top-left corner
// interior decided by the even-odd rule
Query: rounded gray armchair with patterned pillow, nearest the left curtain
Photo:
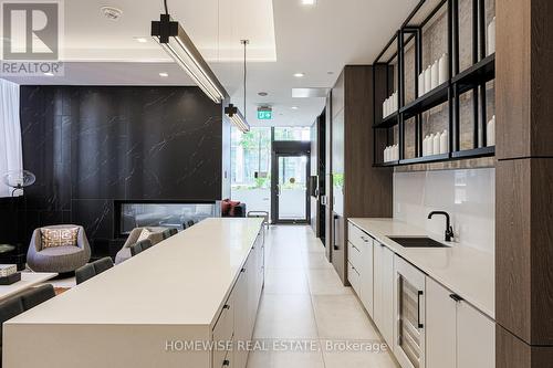
[[[42,246],[41,229],[79,228],[76,246]],[[27,264],[34,272],[73,272],[91,259],[91,245],[83,227],[53,225],[35,229],[27,252]]]

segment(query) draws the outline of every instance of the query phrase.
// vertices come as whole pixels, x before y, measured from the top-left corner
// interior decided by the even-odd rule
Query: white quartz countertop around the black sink
[[[394,219],[348,220],[494,319],[495,264],[493,254],[455,242],[446,243],[450,244],[450,248],[404,248],[388,236],[429,236],[445,242],[444,239],[429,235],[424,229]]]

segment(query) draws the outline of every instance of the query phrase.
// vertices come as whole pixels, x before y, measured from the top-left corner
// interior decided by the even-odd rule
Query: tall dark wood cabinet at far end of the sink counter
[[[331,96],[331,259],[347,284],[347,218],[392,217],[392,170],[373,167],[373,67],[346,65]]]

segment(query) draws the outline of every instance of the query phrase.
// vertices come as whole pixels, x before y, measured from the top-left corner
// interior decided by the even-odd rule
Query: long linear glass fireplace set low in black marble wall
[[[221,217],[220,201],[116,200],[115,238],[134,228],[166,227],[182,230],[190,221]]]

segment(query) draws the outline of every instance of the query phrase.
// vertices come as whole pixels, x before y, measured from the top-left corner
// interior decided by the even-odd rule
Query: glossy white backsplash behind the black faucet
[[[449,212],[456,240],[494,253],[495,169],[463,169],[394,174],[394,218],[444,236]]]

